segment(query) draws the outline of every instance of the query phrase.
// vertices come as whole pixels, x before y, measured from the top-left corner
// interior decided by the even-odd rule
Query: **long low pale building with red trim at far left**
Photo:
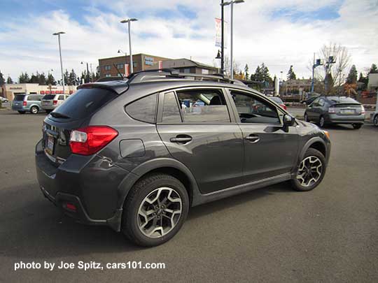
[[[75,85],[64,87],[66,94],[76,92]],[[39,84],[5,84],[1,87],[1,96],[13,101],[17,94],[63,94],[62,85],[39,85]]]

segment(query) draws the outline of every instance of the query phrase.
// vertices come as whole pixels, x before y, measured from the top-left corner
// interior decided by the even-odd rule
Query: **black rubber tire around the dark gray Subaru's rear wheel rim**
[[[167,187],[174,189],[176,194],[181,198],[181,215],[179,216],[176,226],[168,231],[167,234],[158,238],[151,238],[142,233],[141,228],[138,226],[139,221],[139,207],[144,203],[145,198],[151,194],[155,189]],[[170,240],[183,226],[189,210],[189,197],[188,192],[184,185],[175,177],[166,174],[148,175],[139,180],[130,193],[127,195],[125,204],[123,205],[122,216],[122,231],[123,234],[134,244],[153,247],[161,245]],[[164,212],[163,212],[164,213]],[[163,217],[162,217],[163,218]]]

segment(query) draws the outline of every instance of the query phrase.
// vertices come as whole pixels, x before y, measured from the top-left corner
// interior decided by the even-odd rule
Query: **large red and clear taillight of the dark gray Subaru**
[[[91,155],[101,150],[118,136],[118,131],[110,126],[87,126],[71,131],[69,146],[71,152]]]

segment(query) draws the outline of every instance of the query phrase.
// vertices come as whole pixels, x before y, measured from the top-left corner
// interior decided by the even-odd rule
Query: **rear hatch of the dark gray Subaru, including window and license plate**
[[[118,96],[108,89],[79,89],[43,121],[43,150],[52,164],[59,166],[71,155],[71,131],[87,126],[90,117]]]

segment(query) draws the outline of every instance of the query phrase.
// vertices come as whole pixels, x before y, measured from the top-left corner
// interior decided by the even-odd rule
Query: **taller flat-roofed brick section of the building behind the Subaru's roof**
[[[133,71],[144,71],[146,68],[157,64],[158,61],[165,60],[168,60],[168,58],[141,53],[132,55]],[[126,70],[127,67],[129,67],[128,71]],[[119,76],[120,73],[122,73],[124,76],[128,75],[130,73],[130,56],[127,55],[99,59],[99,73],[100,78],[116,77]]]

